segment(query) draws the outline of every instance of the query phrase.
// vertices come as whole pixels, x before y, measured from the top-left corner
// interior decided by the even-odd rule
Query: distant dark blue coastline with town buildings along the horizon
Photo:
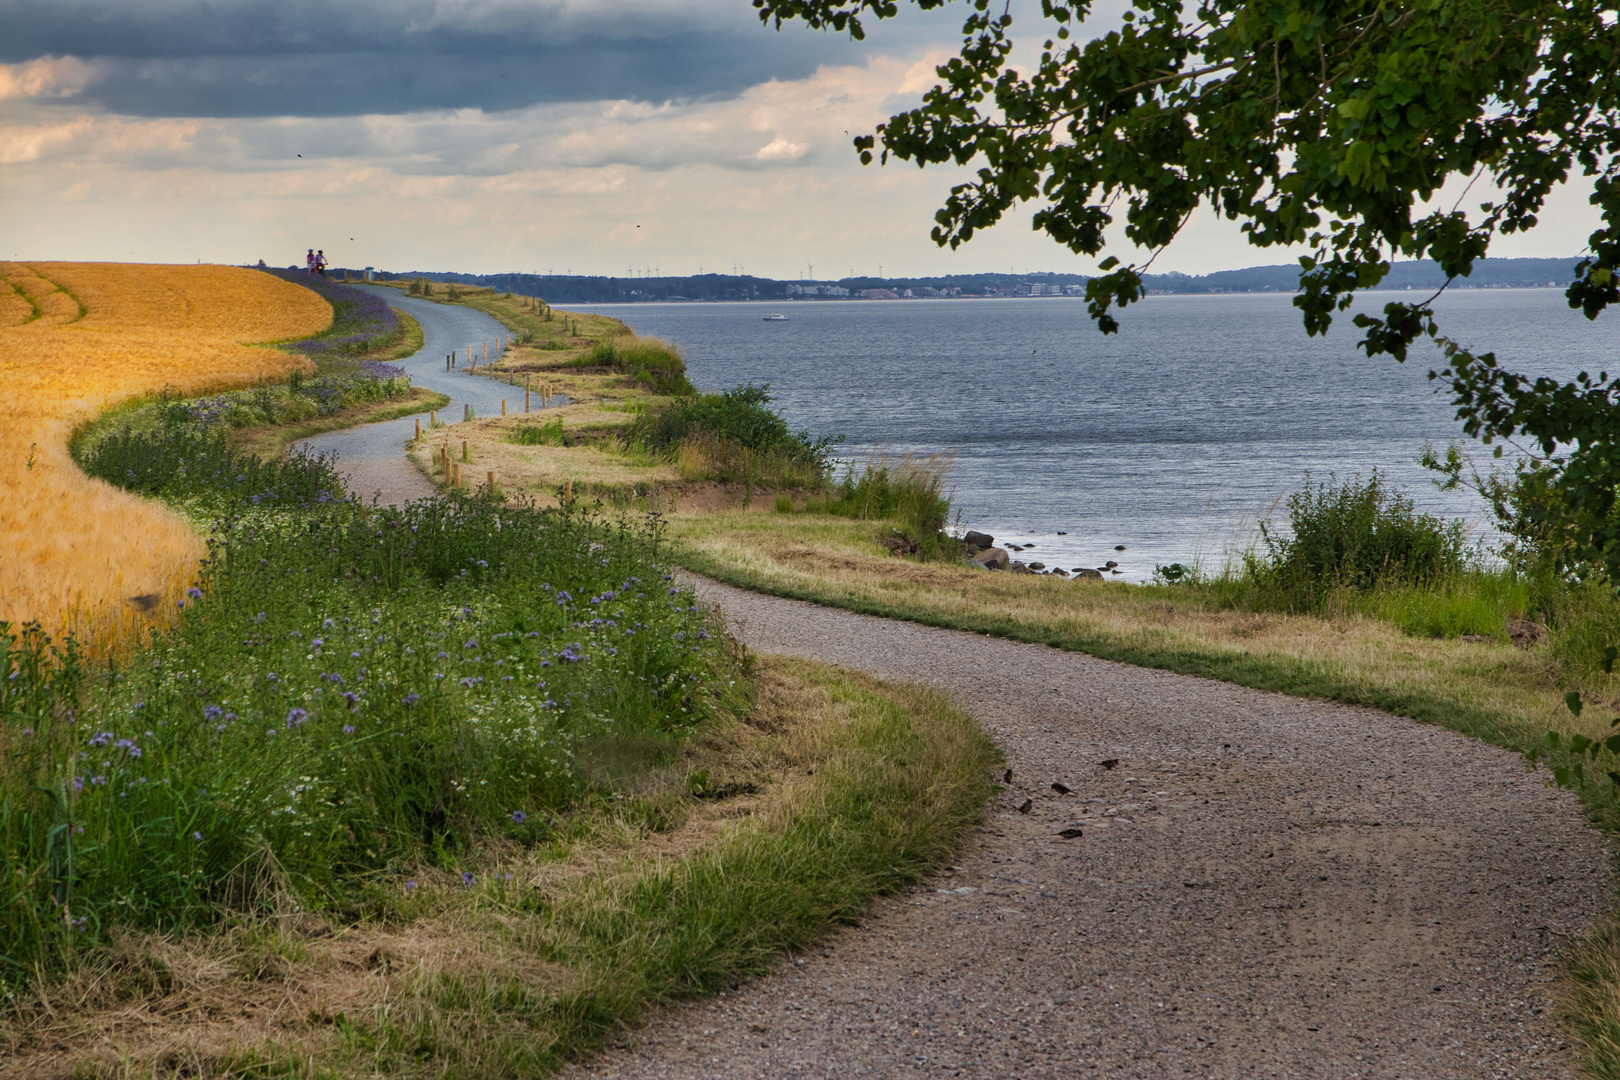
[[[1563,288],[1575,280],[1580,259],[1482,259],[1452,288]],[[816,300],[959,300],[1013,296],[1084,296],[1084,274],[954,274],[943,277],[841,277],[838,280],[778,280],[747,274],[603,277],[575,274],[457,274],[447,270],[374,270],[382,280],[426,277],[457,285],[488,285],[499,291],[541,296],[557,304],[816,301]],[[337,270],[345,272],[345,270]],[[360,275],[350,267],[347,274]],[[1149,274],[1150,295],[1294,293],[1299,266],[1254,266],[1213,274]],[[1396,262],[1379,290],[1422,290],[1445,283],[1429,259]]]

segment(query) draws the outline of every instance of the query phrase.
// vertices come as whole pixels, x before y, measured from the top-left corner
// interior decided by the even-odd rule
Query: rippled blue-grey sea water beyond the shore
[[[1414,296],[1371,293],[1361,308]],[[959,525],[1034,544],[1022,559],[1048,567],[1113,559],[1128,580],[1157,563],[1218,568],[1260,521],[1286,525],[1307,474],[1374,468],[1490,539],[1481,499],[1435,491],[1416,463],[1424,444],[1466,440],[1427,379],[1439,353],[1367,358],[1349,314],[1306,337],[1285,295],[1150,296],[1106,337],[1071,298],[590,309],[679,345],[700,389],[770,384],[795,429],[844,437],[846,461],[954,455]],[[789,321],[763,319],[776,311]],[[1620,369],[1605,319],[1571,313],[1560,290],[1453,291],[1439,311],[1458,342],[1516,371]]]

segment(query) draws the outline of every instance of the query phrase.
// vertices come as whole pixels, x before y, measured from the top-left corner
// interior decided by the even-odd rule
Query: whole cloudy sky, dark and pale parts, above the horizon
[[[1094,272],[1030,232],[1034,206],[941,249],[962,173],[855,159],[852,136],[920,102],[964,13],[854,42],[761,26],[748,0],[0,0],[0,257]],[[1571,256],[1592,227],[1584,191],[1560,191],[1492,253]],[[1153,269],[1288,257],[1200,214]]]

